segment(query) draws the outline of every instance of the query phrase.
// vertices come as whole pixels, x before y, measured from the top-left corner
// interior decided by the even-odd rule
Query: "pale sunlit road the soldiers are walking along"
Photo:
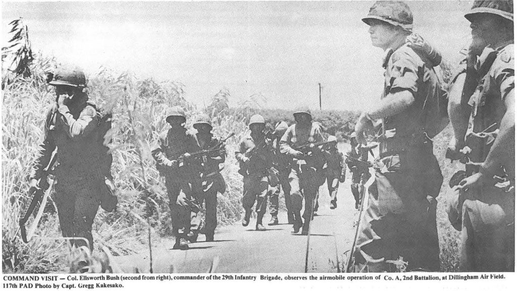
[[[283,199],[281,194],[280,199]],[[336,272],[336,256],[340,269],[346,265],[354,238],[354,222],[358,211],[347,179],[339,188],[338,208],[329,208],[330,198],[326,185],[320,188],[320,209],[311,225],[308,272]],[[264,217],[267,224],[269,215]],[[279,213],[280,225],[265,226],[267,231],[255,231],[255,220],[249,226],[240,224],[219,227],[214,242],[199,241],[189,244],[187,251],[172,250],[174,241],[153,248],[153,271],[155,273],[204,273],[216,259],[216,272],[220,273],[286,273],[303,272],[307,236],[292,233],[287,224],[286,212]],[[301,233],[301,231],[300,231]],[[115,257],[126,272],[149,272],[148,252]]]

